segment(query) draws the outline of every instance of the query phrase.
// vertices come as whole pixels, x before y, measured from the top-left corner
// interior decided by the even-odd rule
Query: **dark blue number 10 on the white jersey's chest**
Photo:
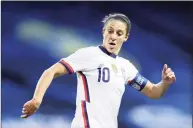
[[[103,82],[109,82],[110,80],[110,71],[109,68],[104,67],[103,69],[98,68],[99,71],[99,76],[98,76],[98,82],[101,82],[101,76],[102,76],[102,81]]]

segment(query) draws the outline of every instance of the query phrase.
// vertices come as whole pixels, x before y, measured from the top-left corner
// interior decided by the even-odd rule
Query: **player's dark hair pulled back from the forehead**
[[[123,21],[124,23],[127,24],[127,34],[130,32],[131,30],[131,22],[129,20],[129,18],[124,15],[124,14],[121,14],[121,13],[111,13],[107,16],[105,16],[102,20],[103,22],[103,25],[105,26],[105,24],[110,20],[110,19],[115,19],[115,20],[120,20],[120,21]]]

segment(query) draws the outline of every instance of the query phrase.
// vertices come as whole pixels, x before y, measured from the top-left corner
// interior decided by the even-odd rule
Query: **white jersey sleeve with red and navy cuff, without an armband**
[[[66,58],[62,58],[59,63],[64,65],[69,73],[84,71],[89,68],[91,62],[87,48],[77,50]]]

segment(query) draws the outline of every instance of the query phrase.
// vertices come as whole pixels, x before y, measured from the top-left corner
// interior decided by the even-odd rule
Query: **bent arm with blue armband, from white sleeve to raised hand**
[[[128,76],[129,79],[126,79],[126,82],[131,87],[152,99],[159,99],[167,91],[168,87],[176,81],[174,72],[171,68],[168,68],[167,64],[164,65],[162,70],[162,80],[157,84],[153,84],[143,77],[131,64],[130,67],[127,67],[126,69],[129,69],[126,70],[126,73],[130,74],[130,76]]]

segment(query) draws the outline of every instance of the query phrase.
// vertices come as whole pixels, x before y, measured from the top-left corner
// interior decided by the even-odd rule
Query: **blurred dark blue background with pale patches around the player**
[[[69,128],[75,112],[76,75],[55,79],[39,111],[20,119],[42,72],[79,48],[102,43],[102,18],[126,14],[130,39],[120,56],[157,83],[163,64],[177,81],[160,100],[126,88],[119,128],[191,128],[193,2],[1,2],[3,128]]]

